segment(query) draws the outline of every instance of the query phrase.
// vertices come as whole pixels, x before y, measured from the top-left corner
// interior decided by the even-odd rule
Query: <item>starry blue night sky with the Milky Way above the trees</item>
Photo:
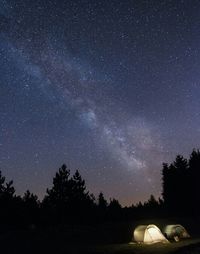
[[[58,168],[123,205],[200,140],[199,0],[1,0],[0,168],[40,198]]]

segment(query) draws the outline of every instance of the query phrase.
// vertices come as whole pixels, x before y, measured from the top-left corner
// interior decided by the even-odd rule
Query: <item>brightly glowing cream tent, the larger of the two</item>
[[[133,241],[138,243],[158,243],[163,242],[167,243],[168,240],[164,237],[160,229],[151,224],[151,225],[141,225],[136,227],[133,233]]]

